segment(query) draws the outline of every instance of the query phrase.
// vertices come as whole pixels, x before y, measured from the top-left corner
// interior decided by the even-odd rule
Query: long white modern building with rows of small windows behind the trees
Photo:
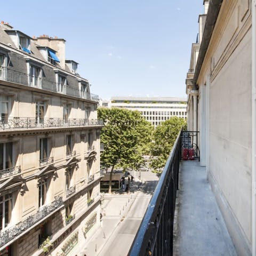
[[[187,99],[175,97],[111,97],[110,107],[138,110],[154,127],[172,116],[187,118]]]

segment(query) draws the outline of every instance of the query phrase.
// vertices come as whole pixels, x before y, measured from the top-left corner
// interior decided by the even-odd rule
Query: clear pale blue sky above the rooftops
[[[1,10],[29,36],[66,39],[66,59],[102,99],[186,96],[203,0],[15,0]]]

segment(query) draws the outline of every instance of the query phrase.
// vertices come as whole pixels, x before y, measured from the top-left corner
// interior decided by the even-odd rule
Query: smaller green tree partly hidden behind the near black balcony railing
[[[156,172],[162,172],[167,158],[169,157],[173,144],[182,127],[186,126],[183,118],[176,116],[158,125],[153,133],[153,142],[151,146],[150,167]]]

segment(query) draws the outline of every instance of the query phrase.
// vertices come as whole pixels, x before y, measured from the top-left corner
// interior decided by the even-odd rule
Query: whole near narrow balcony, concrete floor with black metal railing
[[[236,255],[205,167],[199,157],[181,161],[195,136],[181,132],[175,141],[128,255]]]

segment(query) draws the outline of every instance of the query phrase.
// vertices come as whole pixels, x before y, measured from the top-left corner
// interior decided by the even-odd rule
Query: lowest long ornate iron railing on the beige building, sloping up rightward
[[[26,220],[23,220],[15,226],[0,232],[0,246],[3,246],[19,234],[25,232],[28,228],[35,225],[38,221],[42,220],[61,205],[63,205],[62,197],[55,197],[55,200],[51,204],[41,207],[41,209],[39,209],[34,215],[30,215]]]

